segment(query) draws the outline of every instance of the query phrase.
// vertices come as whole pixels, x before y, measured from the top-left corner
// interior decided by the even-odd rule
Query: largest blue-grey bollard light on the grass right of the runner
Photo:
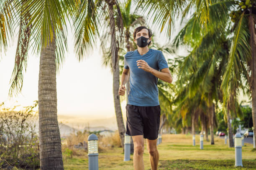
[[[237,133],[235,136],[235,167],[241,166],[243,167],[242,163],[242,140],[241,134]]]

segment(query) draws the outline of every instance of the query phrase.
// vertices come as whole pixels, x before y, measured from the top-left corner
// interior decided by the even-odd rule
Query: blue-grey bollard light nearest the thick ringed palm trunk
[[[88,136],[88,164],[89,170],[99,170],[98,137],[95,134]]]

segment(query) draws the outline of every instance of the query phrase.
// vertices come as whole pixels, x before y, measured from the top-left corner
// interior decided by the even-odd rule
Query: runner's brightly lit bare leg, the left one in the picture
[[[144,170],[143,153],[144,140],[143,135],[132,136],[134,144],[133,168],[134,170]]]

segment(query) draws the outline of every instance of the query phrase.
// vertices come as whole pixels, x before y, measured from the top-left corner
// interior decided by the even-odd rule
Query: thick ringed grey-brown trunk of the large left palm
[[[38,80],[39,147],[41,170],[64,170],[57,120],[56,37],[42,45]],[[50,38],[49,38],[50,39]]]

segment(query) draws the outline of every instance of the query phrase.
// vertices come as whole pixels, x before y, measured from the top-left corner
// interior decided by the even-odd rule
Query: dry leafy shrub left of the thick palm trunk
[[[40,167],[39,142],[34,123],[37,102],[24,110],[15,111],[0,105],[0,168]]]

